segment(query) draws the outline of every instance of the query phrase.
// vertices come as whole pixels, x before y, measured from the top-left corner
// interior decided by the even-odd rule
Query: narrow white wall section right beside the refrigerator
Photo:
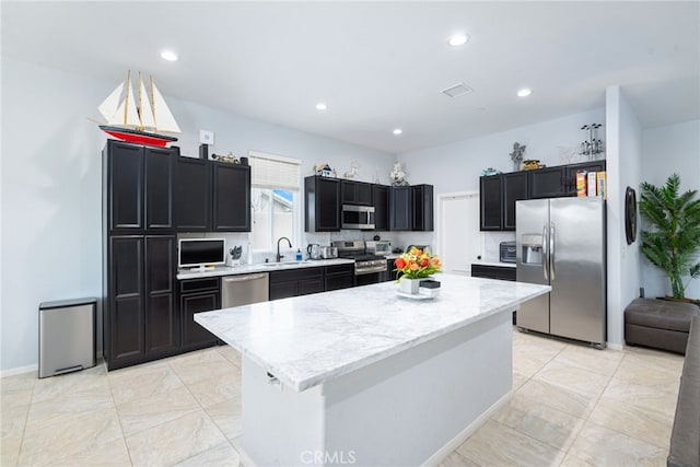
[[[642,129],[619,86],[606,90],[606,139],[608,172],[608,345],[625,342],[625,307],[640,287],[639,242],[627,244],[625,191],[639,191],[642,160]]]

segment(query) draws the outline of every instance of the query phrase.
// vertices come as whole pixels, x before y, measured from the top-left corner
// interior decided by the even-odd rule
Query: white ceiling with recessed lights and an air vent
[[[700,118],[698,1],[1,8],[3,55],[114,82],[105,96],[127,69],[140,70],[166,100],[390,153],[599,108],[611,85],[643,127]],[[450,46],[455,32],[470,40]],[[162,60],[163,48],[179,60]],[[460,82],[474,91],[441,93]],[[517,97],[523,86],[533,94]]]

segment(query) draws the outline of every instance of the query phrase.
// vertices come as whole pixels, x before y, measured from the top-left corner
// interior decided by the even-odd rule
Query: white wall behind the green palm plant
[[[673,173],[680,175],[682,191],[700,190],[700,120],[643,131],[641,179],[660,186]],[[644,255],[641,255],[641,275],[646,296],[670,295],[668,278]],[[700,299],[700,280],[690,282],[686,296]]]

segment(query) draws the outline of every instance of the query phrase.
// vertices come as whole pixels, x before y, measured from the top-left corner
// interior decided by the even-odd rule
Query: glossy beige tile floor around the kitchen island
[[[514,331],[512,400],[444,466],[665,466],[682,357]],[[2,466],[240,465],[240,357],[0,380]],[[243,464],[241,462],[241,464]]]

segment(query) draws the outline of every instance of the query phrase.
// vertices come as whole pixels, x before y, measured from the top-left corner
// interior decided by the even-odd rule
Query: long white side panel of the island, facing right
[[[325,452],[357,465],[432,463],[510,398],[512,369],[508,312],[331,380]]]

